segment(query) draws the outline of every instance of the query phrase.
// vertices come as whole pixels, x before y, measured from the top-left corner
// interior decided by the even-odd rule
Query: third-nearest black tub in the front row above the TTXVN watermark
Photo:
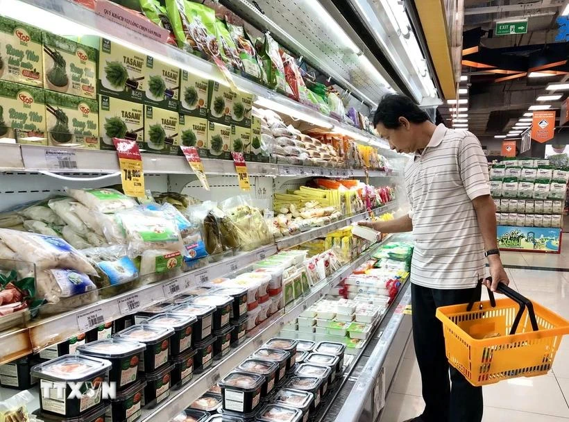
[[[137,324],[117,332],[112,337],[146,344],[142,359],[138,362],[138,370],[152,372],[168,362],[170,337],[173,333],[173,328]]]

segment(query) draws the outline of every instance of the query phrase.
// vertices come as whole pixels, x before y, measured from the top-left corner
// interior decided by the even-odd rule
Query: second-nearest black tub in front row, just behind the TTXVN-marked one
[[[138,341],[107,339],[83,344],[77,348],[81,355],[99,357],[111,363],[109,381],[122,389],[138,379],[138,363],[146,344]]]

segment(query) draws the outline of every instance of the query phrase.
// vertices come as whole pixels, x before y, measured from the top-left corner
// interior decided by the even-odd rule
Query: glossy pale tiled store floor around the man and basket
[[[569,246],[566,242],[563,243],[564,246]],[[567,256],[569,255],[566,255],[566,260]],[[507,271],[511,287],[569,318],[569,272],[528,269]],[[413,345],[409,344],[399,373],[393,380],[380,422],[405,421],[420,414],[423,406],[421,377]],[[553,371],[547,375],[517,378],[484,387],[483,421],[496,422],[505,418],[511,422],[569,422],[568,339],[561,342]]]

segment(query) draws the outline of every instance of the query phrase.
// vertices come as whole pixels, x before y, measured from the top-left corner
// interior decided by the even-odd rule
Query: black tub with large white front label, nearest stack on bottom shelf
[[[263,375],[234,371],[219,381],[223,410],[250,413],[260,403],[261,389],[265,381]]]

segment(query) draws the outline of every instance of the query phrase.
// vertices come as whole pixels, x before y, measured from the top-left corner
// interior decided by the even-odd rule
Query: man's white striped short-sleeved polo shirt
[[[468,131],[436,127],[405,167],[415,248],[411,282],[434,289],[475,287],[486,273],[473,199],[489,195],[488,161]]]

